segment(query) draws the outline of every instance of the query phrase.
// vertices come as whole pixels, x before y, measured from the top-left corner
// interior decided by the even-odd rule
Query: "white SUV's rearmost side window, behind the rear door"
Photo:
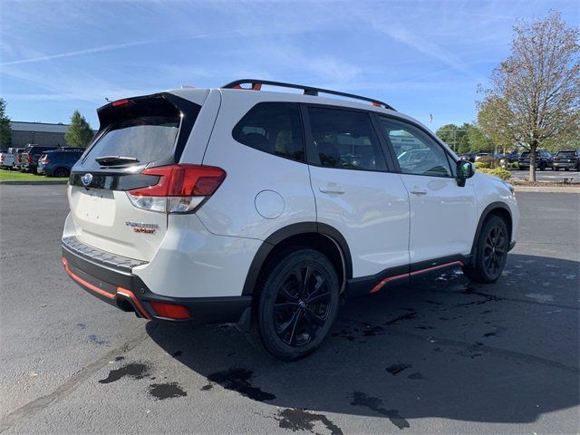
[[[235,140],[248,147],[304,161],[304,140],[298,104],[260,102],[239,121],[232,131]]]

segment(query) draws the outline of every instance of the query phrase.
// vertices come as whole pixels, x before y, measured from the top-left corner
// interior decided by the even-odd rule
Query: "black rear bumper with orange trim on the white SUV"
[[[65,237],[62,244],[66,274],[82,289],[123,311],[133,311],[139,317],[160,322],[212,324],[238,322],[251,306],[251,296],[176,298],[156,295],[139,276],[131,273],[131,262],[135,260],[107,255],[92,248],[82,249],[82,244],[77,241],[75,245],[72,238]],[[190,318],[160,316],[151,304],[156,302],[185,306]]]

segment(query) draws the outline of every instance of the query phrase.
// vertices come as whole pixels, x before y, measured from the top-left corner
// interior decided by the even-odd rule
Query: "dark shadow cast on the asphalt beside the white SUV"
[[[147,330],[208,379],[208,394],[219,385],[286,411],[384,417],[400,429],[423,417],[529,422],[578,405],[579,270],[510,255],[496,284],[455,270],[353,299],[298,362],[275,361],[223,325]]]

